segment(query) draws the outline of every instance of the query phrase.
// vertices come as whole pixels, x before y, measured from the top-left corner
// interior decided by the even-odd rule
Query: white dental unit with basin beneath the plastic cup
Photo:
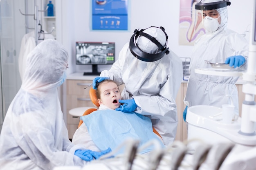
[[[214,144],[216,142],[232,141],[242,145],[256,146],[256,135],[246,136],[240,133],[241,117],[231,124],[222,122],[222,108],[207,105],[188,108],[186,122],[188,123],[188,140]],[[214,115],[218,115],[213,117]]]

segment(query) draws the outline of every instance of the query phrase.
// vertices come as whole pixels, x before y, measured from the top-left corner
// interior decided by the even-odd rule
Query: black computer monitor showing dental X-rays
[[[92,65],[92,72],[83,75],[100,75],[98,65],[115,62],[115,42],[76,42],[76,64]]]

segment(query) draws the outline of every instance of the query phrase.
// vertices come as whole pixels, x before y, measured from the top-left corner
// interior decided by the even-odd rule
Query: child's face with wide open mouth
[[[103,82],[99,85],[98,88],[101,94],[101,98],[98,99],[98,103],[100,105],[104,104],[114,110],[119,108],[119,100],[121,100],[121,94],[117,84],[114,82]]]

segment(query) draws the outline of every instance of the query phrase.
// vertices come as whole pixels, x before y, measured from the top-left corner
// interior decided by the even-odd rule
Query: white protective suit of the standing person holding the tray
[[[204,2],[217,1],[220,0]],[[245,58],[248,56],[249,46],[245,37],[227,28],[227,7],[216,10],[220,14],[220,26],[214,32],[206,30],[206,34],[202,35],[193,47],[185,101],[189,102],[189,106],[222,107],[222,104],[230,104],[230,99],[226,95],[231,95],[235,105],[235,113],[238,114],[238,91],[235,83],[239,77],[195,73],[195,68],[211,68],[210,64],[206,64],[204,60],[212,63],[225,63],[226,58],[230,56],[242,55]],[[245,69],[246,64],[242,68]]]

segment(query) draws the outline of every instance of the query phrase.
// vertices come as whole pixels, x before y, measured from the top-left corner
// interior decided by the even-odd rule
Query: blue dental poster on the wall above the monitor
[[[93,30],[128,30],[128,0],[92,0]]]

